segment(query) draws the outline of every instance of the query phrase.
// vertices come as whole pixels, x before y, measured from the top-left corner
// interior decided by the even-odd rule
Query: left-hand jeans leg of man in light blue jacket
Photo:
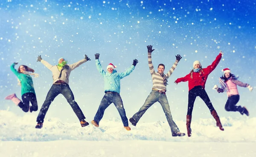
[[[108,108],[108,106],[112,103],[112,94],[111,93],[106,93],[99,105],[99,108],[97,110],[96,115],[94,116],[94,121],[97,123],[97,125],[99,125],[100,120],[102,119],[104,112],[106,110],[106,108]]]

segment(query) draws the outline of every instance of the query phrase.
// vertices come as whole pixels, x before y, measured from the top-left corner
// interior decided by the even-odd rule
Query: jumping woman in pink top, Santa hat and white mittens
[[[217,90],[218,93],[223,93],[224,91],[227,92],[228,99],[225,105],[225,110],[233,112],[238,111],[241,113],[241,115],[245,114],[246,116],[249,116],[249,111],[247,110],[247,108],[236,106],[240,98],[237,90],[237,85],[239,85],[240,87],[247,87],[250,91],[253,90],[253,87],[247,83],[238,81],[238,77],[230,73],[230,69],[225,68],[222,71],[224,71],[224,73],[223,76],[220,77],[219,81],[221,84],[221,88],[219,88],[217,85],[215,85],[213,88]]]

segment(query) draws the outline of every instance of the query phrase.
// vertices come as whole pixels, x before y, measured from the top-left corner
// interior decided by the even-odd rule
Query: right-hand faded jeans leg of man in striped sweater
[[[171,128],[172,134],[176,134],[177,132],[180,132],[179,128],[177,127],[177,125],[175,124],[175,122],[172,119],[172,113],[170,110],[170,106],[169,106],[169,102],[167,100],[167,97],[165,94],[161,94],[160,99],[158,101],[162,108],[163,108],[163,112],[165,113],[167,122]]]

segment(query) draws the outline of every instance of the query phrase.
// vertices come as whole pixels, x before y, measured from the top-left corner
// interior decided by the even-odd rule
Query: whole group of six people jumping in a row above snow
[[[180,132],[179,128],[177,127],[177,125],[175,124],[172,118],[169,102],[166,97],[166,86],[168,84],[167,80],[172,75],[173,71],[177,67],[178,62],[182,57],[179,54],[175,56],[176,60],[172,65],[171,69],[168,71],[168,73],[166,74],[164,73],[164,70],[165,70],[164,64],[159,64],[157,67],[157,72],[155,72],[154,66],[152,64],[152,59],[151,59],[151,54],[154,51],[154,49],[152,49],[151,45],[148,45],[147,49],[148,49],[148,66],[149,66],[149,70],[152,77],[153,87],[147,99],[145,100],[145,103],[143,104],[143,106],[140,108],[140,110],[137,113],[135,113],[129,119],[129,121],[131,122],[132,125],[136,126],[140,118],[146,112],[146,110],[150,108],[155,102],[159,102],[163,108],[163,111],[166,115],[167,122],[171,128],[172,136],[173,137],[185,136],[185,133]],[[194,102],[197,96],[203,99],[203,101],[209,108],[211,115],[216,120],[216,125],[219,127],[221,131],[224,131],[224,128],[221,125],[219,116],[216,110],[214,109],[209,99],[209,96],[207,95],[206,90],[204,89],[207,81],[207,77],[217,67],[218,63],[221,61],[222,55],[223,55],[223,52],[220,51],[220,53],[215,58],[215,61],[213,61],[212,64],[206,68],[202,68],[200,61],[195,61],[193,63],[193,69],[190,71],[190,73],[182,78],[177,78],[175,81],[175,84],[178,84],[180,82],[186,82],[186,81],[188,81],[188,84],[189,84],[188,110],[186,115],[186,128],[187,128],[188,137],[192,135],[191,133],[192,129],[190,127],[191,119],[192,119],[192,110],[193,110]],[[74,64],[67,64],[68,63],[67,60],[65,60],[64,58],[59,58],[58,65],[51,65],[47,61],[42,59],[41,55],[39,55],[37,61],[44,64],[45,67],[47,67],[49,70],[52,71],[53,84],[49,92],[47,93],[46,99],[38,114],[37,125],[35,126],[35,128],[40,129],[43,127],[44,118],[49,109],[49,106],[53,102],[55,97],[58,96],[58,94],[62,94],[67,99],[67,102],[70,104],[71,108],[76,113],[76,116],[80,121],[81,127],[89,125],[89,123],[85,121],[85,116],[81,108],[79,107],[79,105],[76,103],[74,99],[73,92],[69,86],[69,78],[72,70],[79,67],[79,65],[87,61],[90,61],[90,58],[88,58],[87,55],[84,55],[84,59]],[[108,64],[106,68],[107,71],[105,71],[102,68],[102,65],[99,61],[99,53],[95,54],[95,61],[96,61],[97,70],[104,78],[105,95],[103,96],[100,102],[99,108],[96,112],[96,115],[94,116],[94,119],[91,121],[91,124],[93,124],[95,127],[99,127],[99,122],[101,121],[104,115],[105,109],[108,108],[108,106],[113,103],[116,106],[116,109],[118,110],[121,116],[124,128],[127,131],[130,131],[131,128],[129,127],[128,119],[127,119],[123,102],[122,102],[122,98],[119,94],[120,80],[125,76],[128,76],[131,74],[131,72],[134,70],[135,66],[138,63],[138,60],[134,59],[133,64],[125,72],[122,72],[122,73],[117,73],[117,71],[115,70],[116,67],[111,63]],[[34,73],[35,70],[33,70],[30,67],[27,67],[26,65],[20,65],[18,70],[16,70],[15,65],[17,64],[18,64],[17,62],[13,63],[11,65],[11,70],[17,76],[18,84],[21,86],[22,100],[17,98],[15,93],[12,95],[6,96],[5,99],[12,100],[15,103],[15,105],[19,106],[24,112],[37,111],[38,103],[35,95],[32,76],[38,77],[38,74]],[[223,93],[224,91],[227,92],[228,100],[225,105],[225,110],[238,111],[242,115],[245,114],[249,116],[249,111],[247,110],[246,107],[236,106],[237,102],[239,101],[239,93],[237,90],[237,85],[241,87],[247,87],[250,91],[253,90],[253,87],[247,83],[238,81],[238,77],[232,74],[230,69],[225,68],[223,71],[224,71],[223,76],[219,78],[221,87],[218,87],[217,85],[215,85],[213,89],[217,90],[218,93]],[[29,105],[29,103],[31,103],[31,106]]]

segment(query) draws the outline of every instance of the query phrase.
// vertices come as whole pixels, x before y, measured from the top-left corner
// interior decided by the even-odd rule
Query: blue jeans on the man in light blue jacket
[[[103,96],[97,113],[94,116],[94,120],[99,124],[100,120],[104,115],[104,111],[106,110],[106,108],[108,108],[109,105],[111,105],[112,102],[116,106],[116,109],[118,110],[119,115],[121,116],[123,125],[129,126],[128,119],[125,114],[125,108],[122,103],[122,98],[119,95],[119,93],[106,93],[105,96]]]

